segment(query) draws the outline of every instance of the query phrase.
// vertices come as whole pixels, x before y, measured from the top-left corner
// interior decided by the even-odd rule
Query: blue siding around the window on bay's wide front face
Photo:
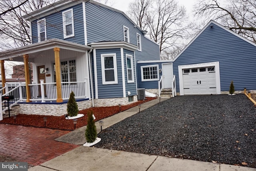
[[[101,54],[116,54],[118,84],[102,84],[102,70],[101,70]],[[122,83],[122,64],[120,49],[101,49],[96,50],[96,65],[97,65],[97,79],[98,79],[98,98],[114,98],[123,97],[123,83]]]

